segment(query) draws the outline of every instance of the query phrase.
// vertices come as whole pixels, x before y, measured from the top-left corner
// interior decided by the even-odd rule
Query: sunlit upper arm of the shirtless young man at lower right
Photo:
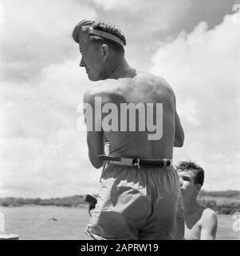
[[[214,211],[210,211],[203,217],[201,240],[215,240],[218,227],[217,214]]]

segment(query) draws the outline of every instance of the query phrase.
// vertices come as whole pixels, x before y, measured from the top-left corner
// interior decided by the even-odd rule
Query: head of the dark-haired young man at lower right
[[[197,196],[204,182],[204,170],[195,162],[180,162],[176,169],[179,172],[180,187],[183,197]]]

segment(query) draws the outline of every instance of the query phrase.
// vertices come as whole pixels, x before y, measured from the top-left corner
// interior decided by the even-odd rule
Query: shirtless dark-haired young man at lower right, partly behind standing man
[[[190,161],[180,162],[176,168],[183,196],[184,239],[214,240],[218,226],[217,215],[214,210],[201,206],[197,201],[204,181],[203,169]]]

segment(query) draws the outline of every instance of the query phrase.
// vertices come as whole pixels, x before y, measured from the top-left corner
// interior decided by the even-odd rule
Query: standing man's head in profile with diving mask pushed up
[[[107,78],[106,66],[124,58],[126,39],[115,25],[84,20],[75,26],[73,39],[79,44],[82,55],[80,66],[85,67],[92,81]]]

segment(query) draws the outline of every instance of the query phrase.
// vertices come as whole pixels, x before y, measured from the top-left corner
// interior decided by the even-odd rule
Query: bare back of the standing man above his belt
[[[106,79],[100,86],[91,88],[90,94],[101,97],[102,104],[114,102],[118,112],[119,131],[106,131],[109,154],[120,157],[134,158],[172,158],[175,141],[175,95],[171,86],[163,78],[152,74],[137,73],[134,78]],[[149,131],[139,131],[139,115],[136,111],[136,131],[120,131],[120,105],[122,103],[153,103],[153,123],[156,118],[155,103],[163,103],[164,122],[161,139],[149,140]],[[148,113],[149,114],[149,113]],[[108,115],[102,115],[101,121]],[[158,121],[159,121],[158,120]],[[132,120],[135,122],[135,120]],[[146,122],[147,123],[147,122]],[[154,132],[155,133],[155,132]],[[154,134],[151,133],[150,134]]]

